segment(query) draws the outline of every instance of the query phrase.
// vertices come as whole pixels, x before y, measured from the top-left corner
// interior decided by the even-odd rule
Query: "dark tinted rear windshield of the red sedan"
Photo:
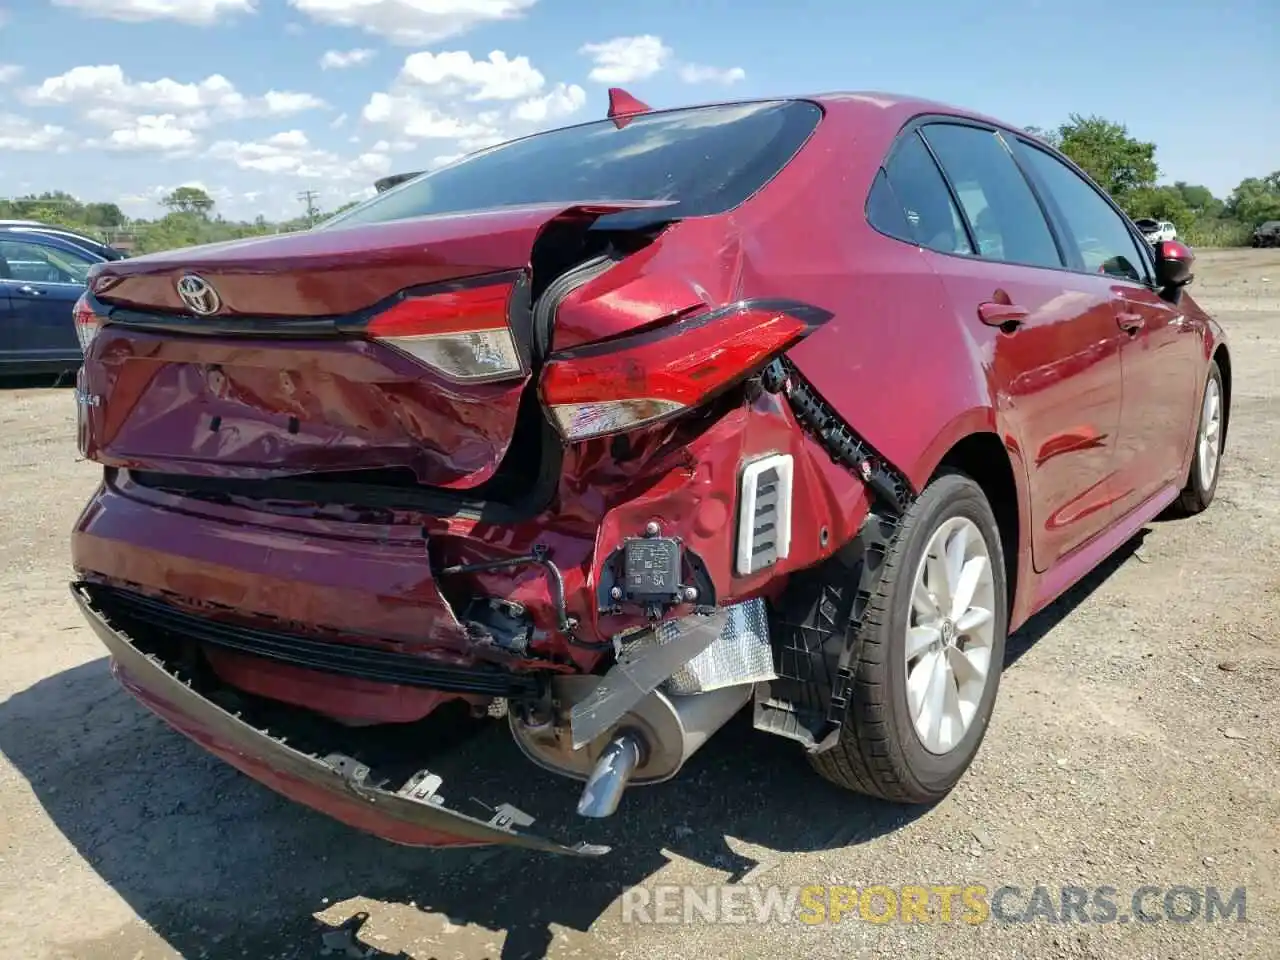
[[[323,227],[591,200],[667,200],[677,216],[719,214],[768,183],[820,116],[815,104],[783,100],[566,127],[472,154]]]

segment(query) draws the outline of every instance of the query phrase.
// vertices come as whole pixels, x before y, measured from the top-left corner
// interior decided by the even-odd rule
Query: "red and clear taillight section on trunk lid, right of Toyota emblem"
[[[406,297],[365,332],[451,380],[521,376],[525,365],[507,320],[512,287],[500,282]]]

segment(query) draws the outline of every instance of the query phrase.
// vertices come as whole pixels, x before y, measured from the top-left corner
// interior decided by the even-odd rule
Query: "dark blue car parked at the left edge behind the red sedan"
[[[79,367],[72,308],[108,257],[56,232],[0,229],[0,376]]]

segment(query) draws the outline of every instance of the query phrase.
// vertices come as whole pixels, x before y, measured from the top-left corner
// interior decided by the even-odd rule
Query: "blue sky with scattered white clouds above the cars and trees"
[[[1277,52],[1277,0],[0,0],[0,196],[150,216],[196,183],[228,216],[291,216],[303,189],[332,209],[602,116],[613,84],[1097,113],[1157,143],[1162,179],[1225,196],[1280,168]]]

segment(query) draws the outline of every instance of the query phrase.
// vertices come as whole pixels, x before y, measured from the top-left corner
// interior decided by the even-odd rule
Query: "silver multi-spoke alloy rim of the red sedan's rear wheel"
[[[906,627],[906,704],[932,754],[959,746],[991,681],[996,585],[987,540],[968,517],[943,521],[915,571]]]

